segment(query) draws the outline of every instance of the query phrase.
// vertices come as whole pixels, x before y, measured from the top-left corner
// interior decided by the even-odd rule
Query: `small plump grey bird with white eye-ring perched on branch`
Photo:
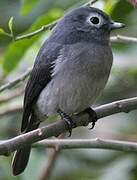
[[[74,113],[87,111],[104,89],[112,66],[110,32],[124,27],[99,9],[80,7],[65,15],[40,49],[25,90],[21,132],[59,113],[71,132]],[[95,124],[96,118],[93,120]],[[22,173],[31,146],[17,150],[13,174]]]

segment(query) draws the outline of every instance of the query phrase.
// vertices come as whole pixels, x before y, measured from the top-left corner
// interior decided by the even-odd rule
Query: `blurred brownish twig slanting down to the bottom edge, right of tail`
[[[65,133],[61,134],[58,139],[62,139],[65,137]],[[48,157],[48,163],[46,165],[46,167],[44,168],[44,171],[42,172],[42,174],[39,177],[39,180],[48,180],[51,176],[51,172],[53,171],[53,168],[55,166],[56,160],[58,158],[58,155],[60,153],[60,146],[54,146],[54,149],[52,151],[50,151],[49,157]]]

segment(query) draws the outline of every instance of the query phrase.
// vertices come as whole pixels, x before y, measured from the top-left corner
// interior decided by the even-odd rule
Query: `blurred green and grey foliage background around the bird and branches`
[[[87,1],[85,0],[0,0],[0,85],[3,85],[33,65],[37,52],[48,37],[42,32],[30,39],[14,42],[14,36],[37,30],[63,16],[63,14]],[[137,10],[126,0],[98,0],[95,7],[105,10],[126,28],[115,31],[137,37]],[[114,64],[109,82],[96,105],[112,102],[137,94],[137,43],[113,43]],[[0,94],[0,139],[16,136],[21,124],[20,107],[25,83]],[[9,100],[5,100],[8,98]],[[107,138],[137,141],[137,111],[120,113],[100,120],[94,130],[77,128],[71,138]],[[0,180],[40,179],[46,169],[51,149],[32,150],[29,165],[18,177],[11,173],[11,156],[0,157]],[[112,150],[62,150],[51,174],[52,180],[137,180],[137,154]]]

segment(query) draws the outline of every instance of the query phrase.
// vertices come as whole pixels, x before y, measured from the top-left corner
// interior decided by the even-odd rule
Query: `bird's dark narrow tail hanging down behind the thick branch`
[[[40,123],[32,124],[30,120],[30,123],[28,125],[28,128],[26,132],[32,131],[34,129],[37,129]],[[29,161],[29,156],[31,152],[31,146],[25,146],[24,148],[21,148],[17,150],[14,154],[13,161],[12,161],[12,173],[14,176],[22,173]]]

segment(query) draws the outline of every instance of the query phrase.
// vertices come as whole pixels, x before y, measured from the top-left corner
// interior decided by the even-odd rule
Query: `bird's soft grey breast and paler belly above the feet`
[[[73,114],[91,106],[105,87],[112,59],[109,45],[65,45],[53,64],[52,80],[38,98],[39,114],[49,116],[58,109]]]

